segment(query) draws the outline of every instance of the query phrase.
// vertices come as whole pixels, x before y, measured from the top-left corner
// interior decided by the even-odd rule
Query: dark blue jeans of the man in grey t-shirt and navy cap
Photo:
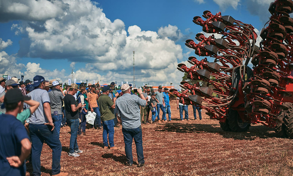
[[[41,176],[41,152],[44,141],[52,149],[52,175],[60,173],[60,157],[62,145],[56,129],[43,124],[29,124],[30,138],[32,141],[32,166],[33,175]]]

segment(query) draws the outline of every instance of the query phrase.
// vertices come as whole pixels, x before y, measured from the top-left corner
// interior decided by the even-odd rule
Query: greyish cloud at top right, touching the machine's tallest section
[[[247,0],[247,10],[251,15],[258,16],[260,21],[265,23],[269,21],[269,18],[271,17],[268,9],[273,1],[274,0]]]

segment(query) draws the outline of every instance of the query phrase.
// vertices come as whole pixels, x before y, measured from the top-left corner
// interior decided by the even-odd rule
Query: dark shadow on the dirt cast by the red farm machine
[[[224,132],[218,124],[178,124],[168,123],[158,126],[155,131],[159,132],[182,132],[182,133],[218,133],[225,138],[233,138],[240,140],[254,140],[258,138],[279,137],[274,129],[266,126],[251,126],[248,132]]]

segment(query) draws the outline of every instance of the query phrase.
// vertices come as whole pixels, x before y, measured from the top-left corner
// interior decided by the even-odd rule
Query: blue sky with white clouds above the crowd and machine
[[[0,0],[0,74],[179,85],[194,16],[221,11],[261,30],[273,0]],[[211,60],[212,61],[212,60]]]

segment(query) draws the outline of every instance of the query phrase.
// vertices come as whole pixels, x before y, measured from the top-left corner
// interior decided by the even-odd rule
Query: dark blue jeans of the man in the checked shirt
[[[138,163],[145,164],[145,157],[143,151],[143,133],[142,127],[138,127],[135,129],[125,129],[122,128],[124,143],[125,143],[125,154],[127,158],[127,163],[133,164],[132,157],[132,139],[134,139],[136,145],[136,154]]]

